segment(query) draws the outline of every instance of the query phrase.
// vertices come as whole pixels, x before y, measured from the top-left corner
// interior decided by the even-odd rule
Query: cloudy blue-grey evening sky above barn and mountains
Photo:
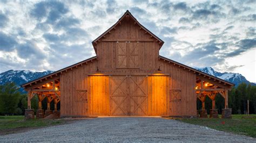
[[[0,72],[58,70],[129,10],[165,41],[160,55],[256,82],[256,1],[0,1]]]

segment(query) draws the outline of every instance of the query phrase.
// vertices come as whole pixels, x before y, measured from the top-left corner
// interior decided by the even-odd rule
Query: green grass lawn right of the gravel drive
[[[190,118],[178,120],[184,121],[185,123],[207,126],[219,131],[243,134],[256,138],[256,115],[232,115],[232,119]]]

